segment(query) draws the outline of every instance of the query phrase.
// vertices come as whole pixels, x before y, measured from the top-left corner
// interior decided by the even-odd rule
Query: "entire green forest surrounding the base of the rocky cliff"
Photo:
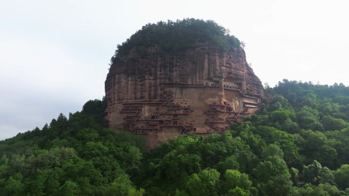
[[[108,129],[104,100],[0,142],[1,195],[349,195],[349,87],[283,80],[230,131]]]

